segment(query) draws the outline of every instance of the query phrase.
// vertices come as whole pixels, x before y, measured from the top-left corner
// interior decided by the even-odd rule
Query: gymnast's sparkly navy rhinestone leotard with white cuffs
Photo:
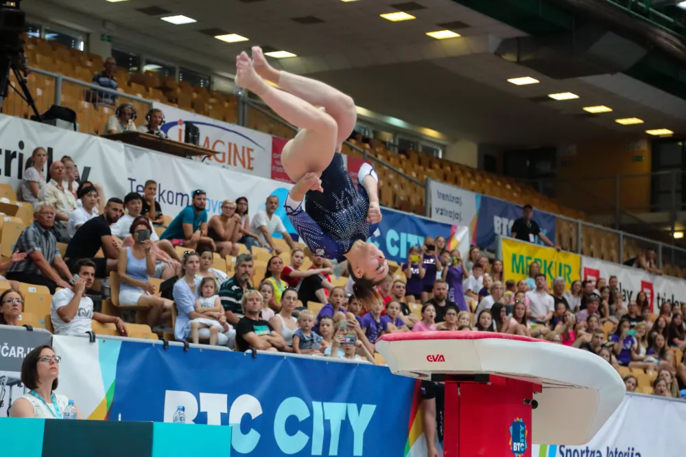
[[[375,175],[370,165],[361,169],[359,183],[366,174]],[[286,214],[313,253],[342,261],[357,239],[366,241],[375,230],[367,222],[369,196],[362,184],[355,189],[340,153],[334,154],[321,179],[324,191],[308,191],[304,210],[302,202],[297,208],[285,204]]]

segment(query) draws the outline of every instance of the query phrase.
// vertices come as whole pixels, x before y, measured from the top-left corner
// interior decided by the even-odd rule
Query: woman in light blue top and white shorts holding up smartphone
[[[171,316],[172,301],[155,296],[154,285],[148,281],[155,272],[155,254],[152,252],[150,233],[152,227],[145,216],[134,219],[129,230],[133,246],[119,251],[117,272],[119,273],[119,306],[147,307],[147,325],[154,327]]]

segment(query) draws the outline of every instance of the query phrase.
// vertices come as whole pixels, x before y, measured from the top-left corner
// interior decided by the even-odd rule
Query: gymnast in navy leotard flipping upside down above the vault
[[[281,152],[283,168],[296,183],[284,205],[288,218],[313,253],[347,260],[357,293],[370,296],[388,274],[388,263],[379,248],[366,243],[373,224],[381,221],[377,174],[362,165],[357,175],[362,185],[355,189],[340,154],[355,127],[355,102],[327,84],[272,68],[259,47],[252,48],[252,59],[241,53],[236,67],[237,86],[259,95],[300,129]]]

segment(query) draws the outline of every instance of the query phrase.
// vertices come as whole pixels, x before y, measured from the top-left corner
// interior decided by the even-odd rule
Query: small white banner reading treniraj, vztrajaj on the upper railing
[[[430,181],[429,191],[431,219],[451,225],[468,226],[470,233],[474,230],[479,213],[477,194],[433,179]]]

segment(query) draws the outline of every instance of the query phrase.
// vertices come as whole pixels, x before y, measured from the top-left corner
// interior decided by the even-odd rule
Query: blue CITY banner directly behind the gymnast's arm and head
[[[410,248],[423,245],[424,238],[427,236],[442,235],[445,239],[451,237],[453,227],[451,224],[388,208],[381,208],[381,215],[383,218],[368,241],[376,244],[388,260],[398,263],[407,262],[407,253]]]

